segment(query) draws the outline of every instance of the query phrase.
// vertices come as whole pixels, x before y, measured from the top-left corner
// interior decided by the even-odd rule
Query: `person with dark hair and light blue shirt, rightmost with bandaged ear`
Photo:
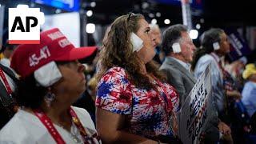
[[[230,74],[223,68],[223,60],[226,54],[230,52],[230,42],[224,30],[212,28],[202,34],[201,47],[195,51],[192,70],[195,78],[199,78],[210,65],[212,101],[216,112],[218,112],[219,139],[225,142],[232,142],[230,127],[224,122],[227,121],[227,96],[233,93],[233,97],[241,97],[238,93],[234,81],[231,81]]]

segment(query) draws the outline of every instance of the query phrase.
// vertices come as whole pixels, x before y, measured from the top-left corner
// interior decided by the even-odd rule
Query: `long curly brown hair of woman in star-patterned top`
[[[142,74],[142,69],[139,67],[141,60],[137,54],[133,53],[130,42],[130,34],[138,31],[141,19],[144,19],[142,14],[126,14],[118,17],[111,24],[99,55],[100,67],[97,80],[102,78],[102,75],[111,67],[119,66],[126,70],[129,80],[135,86],[147,90],[154,88],[148,76]],[[158,71],[157,64],[153,61],[146,63],[146,71],[161,80],[164,78]]]

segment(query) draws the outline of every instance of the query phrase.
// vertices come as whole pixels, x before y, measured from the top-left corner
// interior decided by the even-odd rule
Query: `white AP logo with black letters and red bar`
[[[39,8],[9,8],[9,43],[39,44],[40,25],[45,21]]]

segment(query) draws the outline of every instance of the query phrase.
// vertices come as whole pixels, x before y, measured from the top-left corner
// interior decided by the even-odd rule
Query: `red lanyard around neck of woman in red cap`
[[[58,144],[66,143],[66,142],[64,142],[63,138],[58,133],[58,131],[55,129],[53,122],[51,122],[50,118],[47,117],[47,115],[44,114],[42,112],[42,110],[34,110],[34,114],[40,119],[42,124],[44,126],[46,126],[46,129],[49,131],[50,135],[54,138],[55,142],[57,142]],[[82,126],[82,123],[80,122],[77,114],[75,114],[74,110],[71,107],[70,107],[70,115],[72,117],[72,121],[74,122],[75,126],[78,127],[78,130],[80,131],[80,134],[82,135],[83,142],[86,144],[89,143],[86,140],[86,137],[87,137],[86,129]],[[94,134],[93,138],[98,139],[98,134],[97,135]],[[92,142],[94,142],[94,141],[92,140]]]

